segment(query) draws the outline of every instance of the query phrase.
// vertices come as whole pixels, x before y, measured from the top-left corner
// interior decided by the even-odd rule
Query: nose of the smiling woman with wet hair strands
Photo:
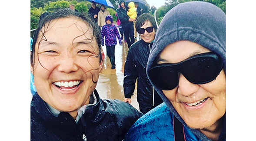
[[[59,72],[71,73],[76,72],[78,70],[78,66],[76,65],[75,58],[69,55],[63,55],[60,64],[58,66]]]

